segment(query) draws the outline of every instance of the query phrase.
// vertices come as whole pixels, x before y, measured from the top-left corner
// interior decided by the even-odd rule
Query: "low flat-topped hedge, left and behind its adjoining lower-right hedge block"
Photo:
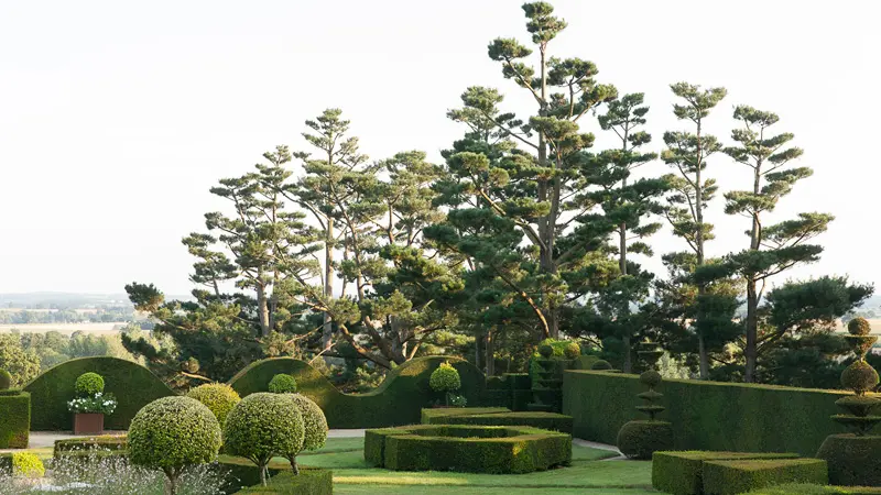
[[[652,455],[652,486],[674,495],[700,495],[704,487],[704,462],[744,459],[795,459],[796,453],[751,453],[677,451],[655,452]]]

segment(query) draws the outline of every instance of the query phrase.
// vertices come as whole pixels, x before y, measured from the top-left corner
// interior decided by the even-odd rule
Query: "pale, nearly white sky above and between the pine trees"
[[[724,86],[708,129],[731,143],[736,105],[774,111],[815,174],[769,218],[836,216],[823,260],[793,277],[881,282],[873,152],[881,102],[881,3],[866,1],[552,2],[569,28],[550,50],[592,61],[598,79],[644,92],[646,130],[686,129],[670,84]],[[494,37],[527,42],[520,1],[0,2],[0,293],[118,293],[132,280],[186,294],[181,238],[221,206],[208,189],[278,144],[307,148],[303,122],[325,108],[352,121],[361,151],[439,151],[463,128],[445,118],[468,86],[532,111],[487,57]],[[613,144],[595,119],[597,147]],[[648,175],[670,172],[661,162]],[[719,156],[721,190],[750,185]],[[708,221],[708,254],[746,248],[744,219]],[[683,250],[665,229],[660,253]],[[869,260],[868,262],[866,260]],[[646,261],[659,270],[660,262]]]

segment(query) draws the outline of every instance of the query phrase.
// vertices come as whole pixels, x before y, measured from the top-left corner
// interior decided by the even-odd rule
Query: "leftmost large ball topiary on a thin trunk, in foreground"
[[[134,415],[129,427],[129,460],[162,470],[172,494],[187,466],[211,462],[220,450],[220,424],[192,397],[163,397]]]

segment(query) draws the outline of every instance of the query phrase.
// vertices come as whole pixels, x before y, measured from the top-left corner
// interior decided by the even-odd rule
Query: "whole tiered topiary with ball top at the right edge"
[[[853,395],[835,402],[848,414],[831,418],[850,433],[826,437],[817,458],[828,462],[829,483],[834,485],[881,486],[881,436],[870,435],[881,422],[881,416],[873,414],[881,406],[881,399],[868,395],[878,385],[878,372],[866,362],[866,353],[878,337],[869,334],[871,327],[863,318],[850,320],[847,330],[849,334],[845,339],[858,359],[841,373],[841,385],[853,391]]]

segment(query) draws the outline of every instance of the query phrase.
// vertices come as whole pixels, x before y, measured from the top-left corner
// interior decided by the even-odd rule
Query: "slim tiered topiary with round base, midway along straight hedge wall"
[[[664,351],[651,342],[640,344],[642,350],[637,354],[642,359],[649,370],[640,375],[640,382],[649,387],[648,392],[639,394],[639,398],[646,402],[637,406],[637,410],[649,415],[649,419],[633,420],[624,424],[618,431],[618,450],[630,459],[652,459],[652,453],[659,450],[673,449],[673,425],[655,418],[665,408],[656,404],[664,395],[655,391],[662,382],[661,373],[654,367]]]

